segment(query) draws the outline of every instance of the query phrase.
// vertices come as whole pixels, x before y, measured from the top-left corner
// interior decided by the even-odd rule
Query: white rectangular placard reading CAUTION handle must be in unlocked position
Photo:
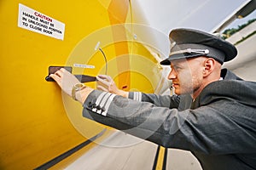
[[[45,36],[64,39],[65,24],[23,4],[19,4],[18,26]]]

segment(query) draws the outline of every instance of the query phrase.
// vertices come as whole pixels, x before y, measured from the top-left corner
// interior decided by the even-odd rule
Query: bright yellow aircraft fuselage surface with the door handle
[[[65,95],[61,98],[55,82],[44,80],[50,65],[94,65],[94,69],[73,68],[73,73],[104,74],[105,60],[95,49],[100,42],[108,74],[119,88],[154,92],[156,61],[143,44],[130,41],[125,27],[113,27],[132,22],[129,1],[119,2],[1,1],[1,169],[36,168],[105,128],[84,119],[81,105]],[[18,27],[19,3],[64,23],[64,39]],[[87,85],[95,87],[94,82]]]

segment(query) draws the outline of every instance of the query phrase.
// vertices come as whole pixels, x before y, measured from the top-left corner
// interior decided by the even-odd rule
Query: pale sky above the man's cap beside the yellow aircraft
[[[213,31],[249,0],[137,0],[151,26],[166,34],[176,27]],[[255,11],[249,17],[256,17]],[[247,20],[247,17],[246,19]],[[241,25],[236,20],[231,26]]]

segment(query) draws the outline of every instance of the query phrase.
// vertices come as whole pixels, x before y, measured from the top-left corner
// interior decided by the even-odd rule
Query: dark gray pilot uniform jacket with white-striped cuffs
[[[228,70],[192,102],[188,95],[95,90],[83,116],[168,148],[190,150],[203,169],[256,169],[256,82]]]

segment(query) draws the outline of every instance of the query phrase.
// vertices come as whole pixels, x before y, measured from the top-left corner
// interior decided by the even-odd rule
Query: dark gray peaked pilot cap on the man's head
[[[236,47],[220,37],[204,31],[179,28],[169,34],[171,50],[169,57],[160,62],[161,65],[170,65],[173,59],[187,59],[205,56],[216,59],[220,64],[234,59]]]

